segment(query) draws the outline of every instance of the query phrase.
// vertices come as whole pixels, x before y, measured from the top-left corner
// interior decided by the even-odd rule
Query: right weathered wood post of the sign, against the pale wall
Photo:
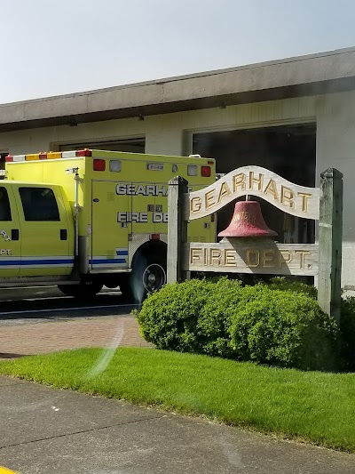
[[[340,322],[343,240],[343,174],[328,168],[320,174],[318,302]]]

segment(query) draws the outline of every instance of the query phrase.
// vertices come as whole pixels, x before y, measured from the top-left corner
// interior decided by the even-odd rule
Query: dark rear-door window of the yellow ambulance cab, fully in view
[[[25,221],[60,221],[53,190],[50,188],[20,188]]]

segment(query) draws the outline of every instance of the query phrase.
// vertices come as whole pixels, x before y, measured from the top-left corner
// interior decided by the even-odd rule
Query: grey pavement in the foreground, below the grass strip
[[[5,377],[0,420],[0,466],[20,474],[355,472],[350,454]]]

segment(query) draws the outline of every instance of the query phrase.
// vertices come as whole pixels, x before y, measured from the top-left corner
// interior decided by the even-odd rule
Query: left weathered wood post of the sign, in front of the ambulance
[[[180,282],[184,279],[182,262],[182,245],[187,241],[187,221],[184,221],[187,181],[177,176],[169,181],[168,194],[168,261],[167,283]]]

